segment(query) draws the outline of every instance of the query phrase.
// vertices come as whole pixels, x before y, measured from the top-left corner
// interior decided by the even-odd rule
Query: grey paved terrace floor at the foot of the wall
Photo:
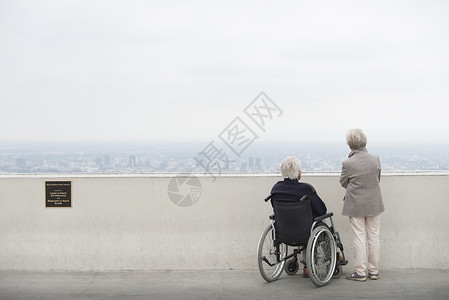
[[[377,281],[331,280],[317,288],[258,271],[0,271],[0,299],[449,299],[449,270],[389,270]]]

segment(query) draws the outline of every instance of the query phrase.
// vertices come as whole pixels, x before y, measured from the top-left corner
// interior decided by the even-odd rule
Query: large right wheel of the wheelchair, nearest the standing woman
[[[335,240],[327,226],[312,231],[307,243],[306,264],[313,284],[325,285],[334,275],[337,263]]]

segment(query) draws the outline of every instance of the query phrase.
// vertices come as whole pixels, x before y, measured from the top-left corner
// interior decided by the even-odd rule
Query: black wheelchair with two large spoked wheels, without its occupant
[[[257,260],[262,277],[272,282],[284,270],[294,275],[301,262],[307,266],[308,275],[317,287],[338,278],[348,261],[332,221],[333,213],[313,218],[307,195],[292,202],[276,201],[278,197],[282,195],[265,198],[265,202],[271,199],[274,214],[269,217],[271,225],[262,233],[258,244]],[[290,253],[289,247],[293,249]],[[302,259],[298,262],[299,254]]]

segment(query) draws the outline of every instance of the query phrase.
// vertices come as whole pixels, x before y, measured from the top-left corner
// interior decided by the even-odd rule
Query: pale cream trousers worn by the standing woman
[[[379,273],[380,259],[380,215],[374,217],[349,217],[354,232],[355,271],[366,276],[366,269],[371,274]],[[368,241],[368,260],[366,259],[366,242]]]

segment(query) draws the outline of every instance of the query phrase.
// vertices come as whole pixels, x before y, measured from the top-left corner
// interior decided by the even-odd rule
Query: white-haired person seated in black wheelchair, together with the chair
[[[316,286],[324,286],[340,276],[341,265],[347,263],[332,222],[333,213],[326,214],[326,205],[310,184],[299,182],[299,159],[287,157],[281,163],[281,174],[284,180],[276,183],[265,199],[271,200],[274,215],[259,240],[259,271],[268,282],[277,280],[284,269],[294,275],[299,270],[297,256],[302,254],[304,275]]]

